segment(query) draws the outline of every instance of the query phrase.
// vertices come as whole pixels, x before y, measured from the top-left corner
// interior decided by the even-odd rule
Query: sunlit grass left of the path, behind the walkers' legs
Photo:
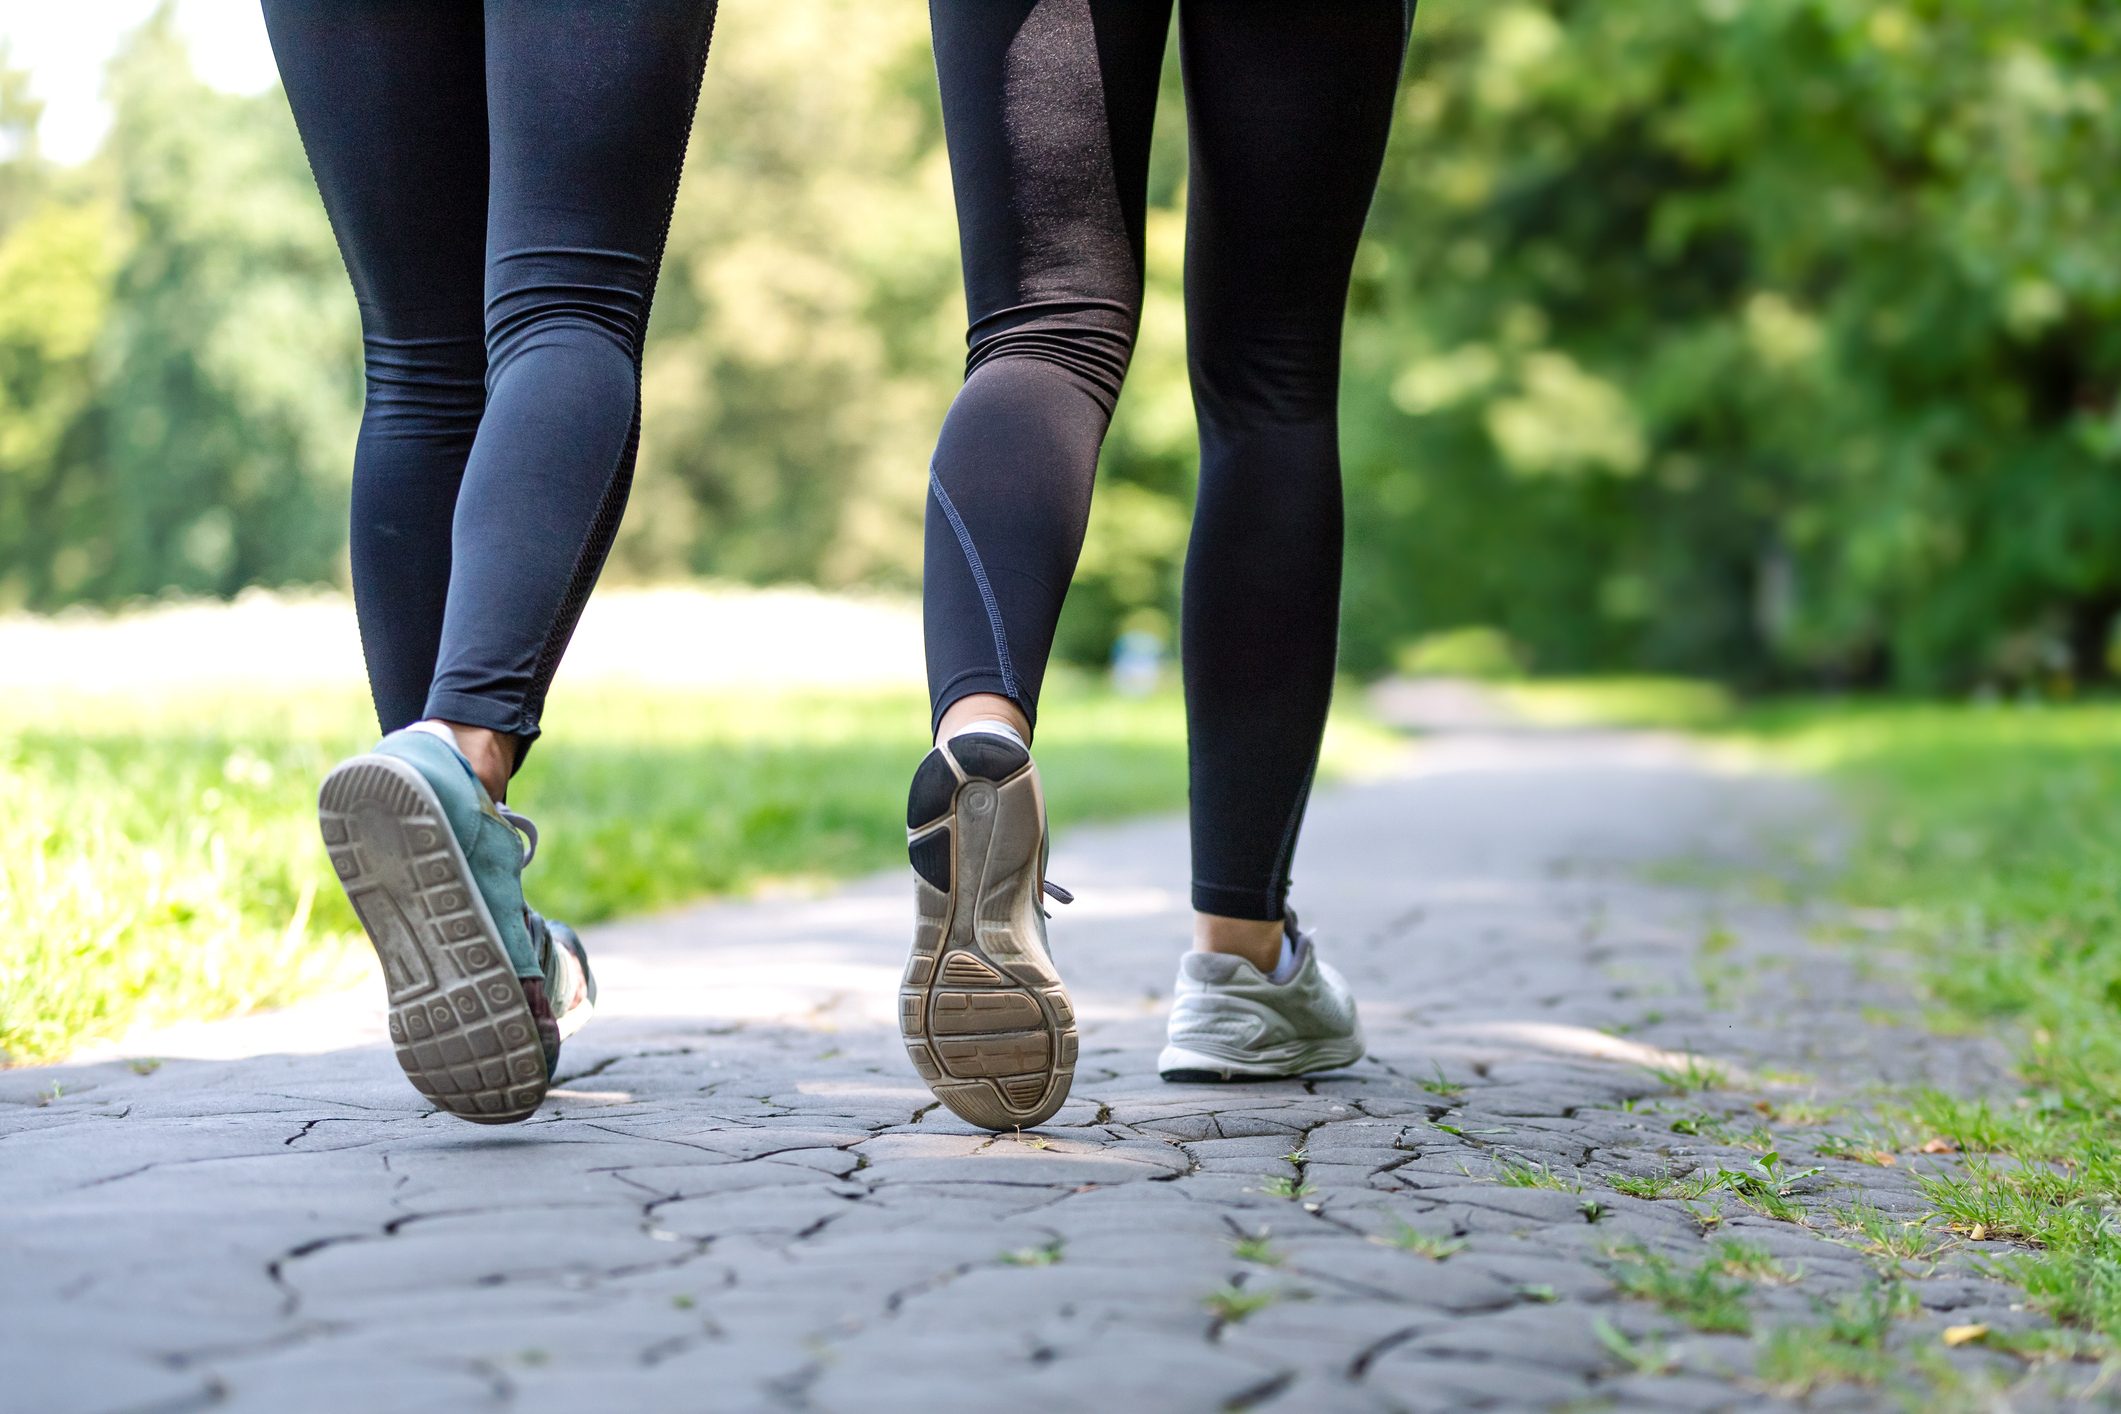
[[[530,897],[568,922],[904,861],[918,693],[562,683],[547,721],[511,803],[545,833]],[[314,799],[373,736],[358,691],[0,702],[0,1062],[358,977]],[[1338,717],[1326,770],[1377,740]],[[1179,700],[1058,674],[1039,765],[1058,829],[1184,808]]]

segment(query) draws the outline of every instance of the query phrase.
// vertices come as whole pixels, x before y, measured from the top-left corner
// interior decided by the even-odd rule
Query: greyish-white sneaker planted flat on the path
[[[1355,996],[1319,962],[1309,933],[1296,931],[1296,971],[1266,977],[1228,952],[1188,952],[1171,998],[1169,1043],[1156,1058],[1167,1081],[1287,1079],[1362,1060]]]

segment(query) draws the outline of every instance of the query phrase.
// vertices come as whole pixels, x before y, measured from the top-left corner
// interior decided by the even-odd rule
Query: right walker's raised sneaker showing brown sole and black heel
[[[1075,1007],[1039,929],[1046,801],[1031,753],[993,736],[937,746],[906,803],[914,950],[906,1056],[988,1130],[1044,1124],[1075,1079]]]

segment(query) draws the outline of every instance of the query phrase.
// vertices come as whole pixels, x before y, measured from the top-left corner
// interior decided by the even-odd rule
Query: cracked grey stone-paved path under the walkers
[[[1877,948],[1671,867],[1828,823],[1669,740],[1430,740],[1324,793],[1298,865],[1372,1058],[1239,1088],[1152,1071],[1184,829],[1075,833],[1082,1068],[1020,1136],[906,1066],[897,878],[596,931],[607,1011],[511,1130],[424,1113],[365,996],[161,1043],[225,1060],[0,1073],[0,1406],[1775,1408],[1767,1333],[1883,1261],[1920,1302],[1896,1348],[2043,1408],[2083,1372],[1939,1340],[2032,1323],[1964,1244],[1892,1263],[1824,1217],[1915,1213],[1924,1160],[1811,1160],[1835,1126],[1790,1121],[1881,1077],[2000,1088],[1996,1054],[1879,1024],[1909,1003]],[[1722,1141],[1763,1121],[1826,1166],[1790,1196],[1809,1227],[1716,1191],[1703,1236],[1610,1187],[1743,1170]],[[1720,1238],[1799,1272],[1748,1295],[1754,1340],[1616,1293],[1616,1247],[1690,1266]]]

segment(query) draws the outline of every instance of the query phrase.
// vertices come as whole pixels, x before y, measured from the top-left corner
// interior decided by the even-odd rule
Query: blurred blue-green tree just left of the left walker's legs
[[[98,348],[91,594],[337,577],[358,318],[280,95],[199,83],[163,6],[110,64],[123,254]]]

